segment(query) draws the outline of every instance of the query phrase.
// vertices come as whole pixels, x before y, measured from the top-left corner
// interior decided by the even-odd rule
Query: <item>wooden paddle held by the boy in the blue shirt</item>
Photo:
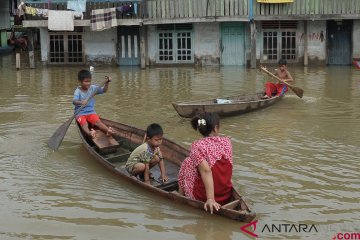
[[[97,87],[97,89],[86,99],[87,101],[89,101],[91,98],[93,98],[99,88],[103,87],[105,85],[105,83],[107,83],[109,81],[109,77],[105,76],[105,81],[103,82],[103,84],[99,87]],[[67,120],[66,122],[64,122],[55,132],[54,134],[50,137],[50,139],[48,140],[48,146],[52,149],[52,150],[57,150],[62,142],[62,140],[65,137],[65,134],[71,124],[71,122],[74,120],[74,118],[76,117],[77,114],[79,114],[79,112],[85,107],[86,105],[82,105],[81,107],[78,108],[78,110],[76,110],[76,112],[74,113],[74,115],[72,115],[72,117]]]

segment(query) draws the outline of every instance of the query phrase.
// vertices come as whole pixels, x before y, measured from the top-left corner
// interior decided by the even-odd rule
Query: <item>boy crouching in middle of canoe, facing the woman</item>
[[[146,141],[138,146],[129,156],[126,162],[126,170],[131,176],[140,176],[146,184],[150,184],[152,178],[150,169],[159,164],[161,181],[167,182],[169,177],[165,173],[163,157],[160,145],[163,139],[163,130],[157,123],[150,124],[146,129]]]

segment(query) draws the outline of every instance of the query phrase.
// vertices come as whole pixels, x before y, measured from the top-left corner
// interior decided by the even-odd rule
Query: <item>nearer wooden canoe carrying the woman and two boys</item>
[[[115,144],[113,149],[111,149],[111,147],[97,147],[94,141],[84,135],[78,127],[85,148],[99,163],[117,176],[122,177],[147,191],[168,198],[171,201],[201,209],[205,212],[204,202],[192,200],[177,193],[178,171],[181,162],[188,156],[189,150],[170,140],[164,139],[161,150],[165,160],[166,174],[169,176],[169,181],[165,184],[161,184],[160,181],[157,180],[160,177],[160,170],[158,166],[155,166],[151,169],[154,179],[151,180],[151,185],[148,185],[135,177],[131,177],[125,169],[125,163],[131,151],[143,142],[145,131],[106,119],[102,119],[102,121],[115,130],[116,137],[114,137],[114,139],[118,144]],[[256,214],[251,212],[243,197],[235,189],[233,189],[232,201],[223,205],[221,209],[217,212],[215,211],[215,213],[242,222],[251,222],[256,217]]]

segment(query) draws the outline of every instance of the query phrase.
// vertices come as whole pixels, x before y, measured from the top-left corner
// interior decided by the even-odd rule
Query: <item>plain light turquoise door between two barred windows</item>
[[[244,23],[221,24],[221,64],[245,65]]]

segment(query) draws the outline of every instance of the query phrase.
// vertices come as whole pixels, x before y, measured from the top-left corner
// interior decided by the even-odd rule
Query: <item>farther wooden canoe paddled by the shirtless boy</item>
[[[197,113],[202,112],[216,112],[220,117],[226,117],[269,107],[284,97],[283,94],[268,99],[261,99],[263,95],[264,92],[259,92],[250,95],[238,95],[225,98],[175,102],[172,105],[177,113],[184,118],[192,118]]]

